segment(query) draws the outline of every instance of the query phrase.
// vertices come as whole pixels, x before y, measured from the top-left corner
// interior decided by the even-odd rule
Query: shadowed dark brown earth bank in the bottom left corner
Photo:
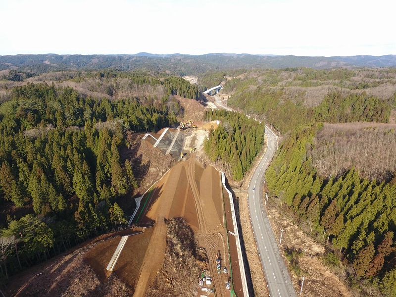
[[[7,291],[3,291],[4,295],[94,297],[98,296],[99,292],[101,296],[131,295],[129,288],[115,275],[101,281],[86,261],[91,249],[100,247],[108,239],[117,239],[118,235],[125,232],[131,233],[131,230],[102,235],[101,240],[89,241],[66,255],[57,256],[13,276]]]

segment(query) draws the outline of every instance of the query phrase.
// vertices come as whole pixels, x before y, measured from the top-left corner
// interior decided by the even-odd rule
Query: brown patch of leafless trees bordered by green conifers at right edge
[[[314,145],[313,165],[324,177],[338,176],[351,166],[361,177],[377,181],[396,172],[396,124],[324,124]]]

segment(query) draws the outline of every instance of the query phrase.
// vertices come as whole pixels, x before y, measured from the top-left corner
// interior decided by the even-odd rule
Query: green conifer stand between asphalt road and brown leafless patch
[[[320,128],[307,126],[285,140],[267,170],[267,187],[312,236],[339,249],[358,277],[381,278],[387,295],[395,288],[396,177],[377,182],[361,178],[352,167],[323,178],[311,158]]]

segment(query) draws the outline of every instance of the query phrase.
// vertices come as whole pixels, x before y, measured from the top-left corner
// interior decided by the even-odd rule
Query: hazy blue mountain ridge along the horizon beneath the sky
[[[259,55],[248,53],[156,54],[18,54],[0,56],[0,70],[43,73],[60,70],[171,71],[177,75],[199,74],[208,70],[237,68],[296,68],[329,69],[339,67],[395,67],[396,55],[356,56],[294,56]]]

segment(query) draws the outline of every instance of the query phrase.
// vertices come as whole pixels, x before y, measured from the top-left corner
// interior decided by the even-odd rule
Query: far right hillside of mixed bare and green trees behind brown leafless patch
[[[253,70],[235,78],[219,74],[200,81],[214,85],[211,78],[218,81],[222,75],[229,106],[260,115],[282,133],[317,121],[387,123],[396,114],[395,69]]]

